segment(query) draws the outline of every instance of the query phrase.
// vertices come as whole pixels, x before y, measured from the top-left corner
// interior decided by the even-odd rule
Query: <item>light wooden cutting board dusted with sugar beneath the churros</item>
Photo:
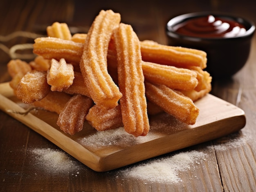
[[[56,125],[58,115],[45,110],[25,112],[30,105],[13,95],[9,83],[0,84],[0,109],[38,132],[92,170],[103,172],[236,132],[245,126],[240,108],[213,95],[195,102],[200,114],[193,126],[162,113],[150,118],[146,137],[133,137],[123,128],[98,132],[85,122],[81,132],[66,135]]]

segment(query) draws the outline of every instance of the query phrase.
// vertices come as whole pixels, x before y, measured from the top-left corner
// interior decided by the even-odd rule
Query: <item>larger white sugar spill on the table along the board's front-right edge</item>
[[[206,154],[198,151],[180,152],[171,157],[153,160],[122,170],[124,177],[141,179],[146,182],[178,183],[178,173],[189,170],[191,165],[205,161]]]

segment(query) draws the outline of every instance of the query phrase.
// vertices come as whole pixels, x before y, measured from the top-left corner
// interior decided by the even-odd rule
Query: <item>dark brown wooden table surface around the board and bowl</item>
[[[101,9],[112,9],[121,13],[122,22],[132,25],[140,40],[154,40],[167,44],[165,25],[175,15],[196,11],[222,11],[256,22],[255,7],[256,2],[250,0],[94,0],[90,2],[2,0],[0,3],[0,83],[11,79],[6,66],[11,59],[7,53],[8,49],[16,44],[33,43],[33,38],[28,37],[12,37],[7,40],[7,35],[16,31],[43,36],[46,35],[46,26],[58,21],[66,22],[71,27],[72,33],[86,33]],[[53,143],[24,124],[0,111],[0,191],[255,191],[255,74],[256,36],[252,42],[249,60],[242,70],[230,79],[214,79],[211,91],[211,94],[245,111],[247,119],[245,127],[227,137],[164,155],[165,158],[171,159],[179,154],[188,154],[192,159],[186,165],[184,162],[178,163],[170,173],[177,175],[174,175],[170,182],[164,183],[126,177],[124,172],[130,171],[134,166],[142,166],[141,163],[108,172],[95,172],[63,153]],[[35,153],[33,149],[38,148],[41,152],[45,149],[48,152],[63,154],[64,160],[70,159],[68,165],[72,162],[72,167],[65,170],[64,167],[67,167],[65,164],[60,168],[59,164],[67,161],[56,162],[55,165],[54,162],[45,164],[42,156],[39,158],[31,153],[31,151]],[[204,154],[203,159],[193,156],[191,150],[195,154]],[[143,163],[148,165],[157,162],[160,158],[163,156]],[[146,168],[141,169],[141,172],[146,170],[148,171]]]

